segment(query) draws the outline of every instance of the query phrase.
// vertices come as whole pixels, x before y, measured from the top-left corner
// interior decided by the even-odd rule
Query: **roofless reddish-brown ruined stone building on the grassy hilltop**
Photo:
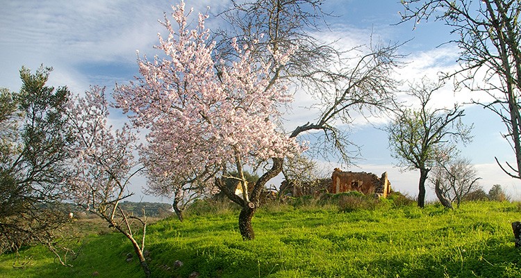
[[[336,168],[331,175],[331,186],[329,193],[342,193],[348,191],[358,191],[365,195],[377,195],[386,198],[391,192],[390,182],[387,172],[381,174],[381,178],[376,174],[366,172],[343,172]]]

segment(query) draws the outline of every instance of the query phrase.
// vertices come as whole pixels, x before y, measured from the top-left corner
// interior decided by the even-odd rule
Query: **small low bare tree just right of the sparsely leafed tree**
[[[440,161],[433,167],[433,177],[431,179],[435,186],[439,186],[440,192],[448,197],[451,202],[456,202],[456,206],[465,197],[479,186],[477,170],[466,158],[451,158]]]

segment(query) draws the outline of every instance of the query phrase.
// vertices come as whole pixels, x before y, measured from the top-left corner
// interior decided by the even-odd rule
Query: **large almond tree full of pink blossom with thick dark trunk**
[[[215,175],[215,184],[242,207],[239,227],[242,237],[254,238],[251,218],[265,183],[281,172],[286,155],[301,152],[294,138],[277,129],[279,108],[292,101],[287,88],[270,79],[271,65],[256,62],[251,47],[231,42],[237,59],[216,63],[215,42],[205,28],[208,15],[199,14],[199,24],[188,29],[192,10],[185,12],[181,1],[172,6],[174,27],[165,15],[167,38],[159,35],[158,49],[165,57],[138,60],[141,78],[116,89],[115,99],[124,111],[131,111],[133,124],[150,130],[149,152],[165,154],[162,162],[168,174]],[[292,51],[273,51],[283,65]],[[247,184],[244,169],[260,161],[271,167],[254,186]],[[267,165],[267,164],[265,164]],[[235,178],[242,195],[231,193],[224,179]],[[251,188],[253,187],[253,188]]]

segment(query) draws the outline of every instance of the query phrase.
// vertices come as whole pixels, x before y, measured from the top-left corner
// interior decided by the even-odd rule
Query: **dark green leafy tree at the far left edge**
[[[50,67],[22,67],[20,92],[0,91],[0,253],[42,243],[60,260],[54,231],[63,211],[69,90],[46,85]]]

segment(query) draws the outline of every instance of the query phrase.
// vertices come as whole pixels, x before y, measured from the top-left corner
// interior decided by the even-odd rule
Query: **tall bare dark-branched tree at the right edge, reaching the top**
[[[497,164],[510,177],[521,179],[521,2],[518,0],[405,0],[404,21],[431,17],[444,22],[456,34],[461,69],[458,85],[483,92],[494,101],[474,101],[497,115],[506,126],[504,138],[516,165]]]

